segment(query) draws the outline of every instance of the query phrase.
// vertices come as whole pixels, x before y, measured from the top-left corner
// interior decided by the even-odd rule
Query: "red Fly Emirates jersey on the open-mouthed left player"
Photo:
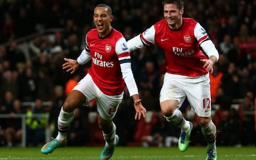
[[[91,29],[86,36],[86,51],[91,53],[88,73],[94,83],[107,95],[121,94],[125,84],[120,62],[130,60],[123,35],[112,29],[107,37],[100,38],[97,29]]]

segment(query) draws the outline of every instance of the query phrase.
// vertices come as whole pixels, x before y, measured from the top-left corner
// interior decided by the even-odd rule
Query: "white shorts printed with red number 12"
[[[211,116],[211,91],[209,74],[197,77],[187,77],[166,73],[160,92],[160,103],[165,100],[179,101],[178,108],[185,98],[191,106],[191,110],[198,116]]]

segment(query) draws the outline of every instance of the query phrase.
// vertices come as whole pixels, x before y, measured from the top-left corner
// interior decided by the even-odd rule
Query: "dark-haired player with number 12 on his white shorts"
[[[193,129],[193,124],[186,121],[179,110],[187,97],[208,144],[206,159],[217,159],[216,127],[211,120],[209,72],[213,72],[212,66],[219,59],[219,53],[198,22],[182,17],[183,1],[164,0],[163,10],[164,19],[130,39],[127,46],[130,52],[151,44],[164,50],[167,73],[159,100],[166,120],[181,129],[179,150],[188,148]]]

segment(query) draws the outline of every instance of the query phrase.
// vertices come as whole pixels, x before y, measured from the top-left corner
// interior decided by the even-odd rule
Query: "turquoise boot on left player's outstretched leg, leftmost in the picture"
[[[53,139],[53,138],[52,138]],[[53,139],[52,141],[46,143],[42,148],[41,148],[41,153],[43,154],[49,154],[52,153],[52,151],[58,147],[65,147],[67,144],[67,140],[60,142],[57,139]]]

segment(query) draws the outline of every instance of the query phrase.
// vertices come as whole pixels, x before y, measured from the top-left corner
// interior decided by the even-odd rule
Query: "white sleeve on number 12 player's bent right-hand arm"
[[[208,57],[214,55],[218,61],[219,52],[210,37],[207,35],[205,29],[199,23],[197,23],[195,26],[194,35],[199,45],[202,47],[203,51],[208,55]]]

